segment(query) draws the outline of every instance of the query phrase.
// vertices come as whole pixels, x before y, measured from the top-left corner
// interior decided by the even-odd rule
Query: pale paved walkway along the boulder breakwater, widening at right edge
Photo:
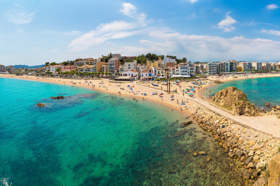
[[[142,85],[136,84],[135,82],[133,82],[133,84],[142,86]],[[153,89],[152,87],[148,87],[148,86],[142,86],[142,87],[145,87],[145,88],[148,88],[148,89],[151,89],[154,91],[158,91],[156,89]],[[182,95],[177,95],[177,94],[175,94],[175,95],[182,97],[184,99],[189,99],[189,100],[195,101],[196,103],[203,105],[204,107],[212,110],[213,112],[221,115],[222,117],[226,117],[228,119],[235,121],[237,124],[239,124],[241,126],[253,129],[254,131],[260,131],[265,134],[272,135],[273,138],[280,139],[280,119],[277,119],[276,116],[252,116],[252,117],[233,116],[230,113],[224,111],[224,109],[217,108],[213,104],[209,103],[208,101],[199,99],[197,97],[195,97],[193,99],[193,98],[190,98],[187,96],[182,96]]]

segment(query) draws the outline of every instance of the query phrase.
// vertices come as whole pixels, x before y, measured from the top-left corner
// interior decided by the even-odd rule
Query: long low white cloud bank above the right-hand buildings
[[[162,29],[161,29],[162,30]],[[184,35],[178,32],[152,31],[151,40],[140,40],[146,47],[122,46],[126,53],[148,52],[187,57],[189,60],[207,62],[209,59],[270,60],[278,58],[280,42],[269,39],[248,39],[243,36],[222,38],[218,36]],[[160,41],[160,42],[157,42]],[[268,59],[268,55],[269,59]]]

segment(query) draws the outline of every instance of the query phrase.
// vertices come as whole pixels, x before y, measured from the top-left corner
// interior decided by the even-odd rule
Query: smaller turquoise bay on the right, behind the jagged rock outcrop
[[[228,87],[235,86],[236,88],[244,91],[247,95],[248,100],[254,103],[259,109],[266,107],[266,103],[270,103],[271,106],[280,105],[280,77],[273,78],[248,78],[248,79],[237,79],[236,81],[228,81],[219,85],[214,85],[204,91],[204,97],[209,95],[214,96],[216,92]],[[209,92],[211,91],[211,93]]]

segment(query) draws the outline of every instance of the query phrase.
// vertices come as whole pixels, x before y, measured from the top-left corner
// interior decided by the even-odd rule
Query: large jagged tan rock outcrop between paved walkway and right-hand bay
[[[261,115],[253,103],[250,103],[243,91],[235,86],[227,87],[215,94],[210,102],[217,106],[224,106],[231,110],[233,115],[259,116]]]

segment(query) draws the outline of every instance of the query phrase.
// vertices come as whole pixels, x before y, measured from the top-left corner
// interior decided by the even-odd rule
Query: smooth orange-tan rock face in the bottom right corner
[[[280,154],[274,156],[270,162],[268,162],[269,175],[268,185],[273,185],[280,182]]]

